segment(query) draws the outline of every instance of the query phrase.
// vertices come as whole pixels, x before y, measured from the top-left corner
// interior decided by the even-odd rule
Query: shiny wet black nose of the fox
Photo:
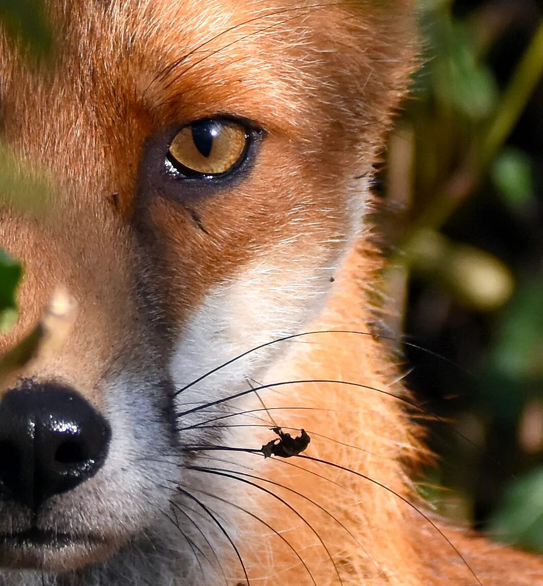
[[[0,496],[38,509],[94,476],[110,437],[102,415],[67,387],[9,390],[0,400]]]

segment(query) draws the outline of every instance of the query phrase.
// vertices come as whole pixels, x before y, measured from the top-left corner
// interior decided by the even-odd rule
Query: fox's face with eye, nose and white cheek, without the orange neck
[[[412,69],[408,3],[47,10],[49,70],[0,49],[6,144],[52,190],[41,213],[2,212],[25,264],[2,351],[57,285],[77,309],[4,391],[0,584],[264,580],[240,567],[269,537],[240,530],[247,485],[198,471],[201,450],[271,439],[261,413],[209,421],[255,408],[251,387],[287,360],[271,342],[321,314],[363,230]]]

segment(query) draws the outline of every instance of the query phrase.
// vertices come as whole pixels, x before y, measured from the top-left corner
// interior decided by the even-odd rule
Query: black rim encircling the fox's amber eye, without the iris
[[[238,157],[238,160],[228,169],[222,173],[200,173],[194,171],[194,169],[188,168],[183,163],[180,163],[173,156],[170,155],[170,145],[174,137],[183,130],[184,128],[190,128],[193,124],[205,123],[205,122],[218,122],[224,124],[236,124],[245,130],[245,147]],[[230,179],[232,176],[237,175],[238,172],[242,171],[246,166],[252,163],[252,159],[255,154],[255,145],[264,135],[264,131],[259,128],[254,122],[251,122],[247,118],[239,118],[227,115],[208,116],[205,118],[197,118],[186,122],[178,126],[172,133],[171,140],[168,144],[166,156],[164,158],[164,169],[166,175],[170,176],[176,181],[188,181],[188,182],[220,182],[222,179]]]

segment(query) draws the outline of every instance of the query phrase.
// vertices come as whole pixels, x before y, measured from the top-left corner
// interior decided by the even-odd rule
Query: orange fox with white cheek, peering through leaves
[[[440,519],[379,316],[375,163],[419,62],[412,0],[46,0],[0,35],[21,259],[0,393],[0,586],[535,586]],[[56,315],[56,314],[55,314]]]

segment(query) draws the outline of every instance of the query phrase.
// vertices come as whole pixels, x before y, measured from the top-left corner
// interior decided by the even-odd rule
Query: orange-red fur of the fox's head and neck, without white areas
[[[52,71],[33,70],[11,41],[0,45],[5,140],[25,165],[46,169],[55,189],[54,209],[39,218],[2,212],[0,245],[23,258],[26,278],[21,318],[0,350],[28,333],[62,283],[78,303],[76,327],[55,357],[23,376],[71,384],[103,408],[100,381],[112,359],[124,369],[154,353],[166,362],[191,312],[218,284],[255,261],[288,274],[296,259],[337,253],[336,241],[349,235],[352,180],[371,175],[414,69],[414,8],[407,0],[51,0],[48,10],[60,38]],[[246,179],[179,205],[138,178],[149,137],[231,113],[267,133]],[[382,267],[369,230],[351,245],[306,331],[367,331]],[[142,281],[166,324],[160,335],[142,335],[154,332],[156,317],[142,309]],[[407,415],[413,408],[398,398],[411,401],[386,345],[348,333],[303,341],[289,346],[267,380],[366,388],[277,387],[264,396],[272,420],[260,413],[253,423],[263,427],[250,445],[241,431],[236,436],[237,445],[259,448],[274,437],[268,423],[305,428],[312,442],[303,455],[333,463],[248,454],[245,472],[289,506],[222,479],[222,496],[250,513],[238,511],[235,542],[251,584],[312,584],[311,575],[318,586],[543,583],[540,558],[447,527],[416,496],[409,473],[428,455]],[[262,404],[250,397],[243,408]],[[228,462],[229,454],[218,457]],[[186,482],[197,478],[187,472]],[[119,546],[110,544],[108,554]],[[218,554],[232,584],[244,582],[228,546]]]

